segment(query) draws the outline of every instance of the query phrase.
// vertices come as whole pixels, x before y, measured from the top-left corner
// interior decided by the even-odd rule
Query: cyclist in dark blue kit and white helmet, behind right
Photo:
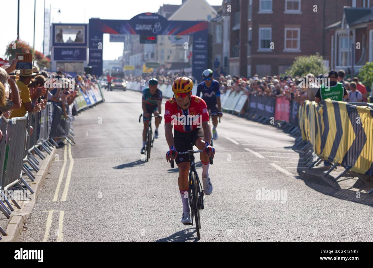
[[[213,71],[211,69],[206,69],[202,73],[204,82],[198,84],[196,96],[200,97],[202,92],[202,99],[206,102],[209,114],[212,117],[212,134],[213,139],[217,139],[217,116],[222,117],[223,113],[222,105],[220,103],[220,84],[213,78]]]

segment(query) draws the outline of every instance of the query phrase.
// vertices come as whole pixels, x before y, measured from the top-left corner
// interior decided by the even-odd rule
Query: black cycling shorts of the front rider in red
[[[177,152],[186,152],[193,149],[195,141],[203,136],[203,128],[197,128],[190,132],[180,132],[177,130],[173,131],[173,142],[175,143],[175,149]],[[193,144],[193,145],[192,145]],[[176,156],[176,164],[181,162],[189,162],[189,154]]]

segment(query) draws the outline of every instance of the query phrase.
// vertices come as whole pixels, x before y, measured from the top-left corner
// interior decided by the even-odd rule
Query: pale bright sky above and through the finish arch
[[[202,0],[201,0],[202,1]],[[207,0],[212,6],[220,6],[223,0]],[[19,0],[19,38],[33,45],[34,0]],[[131,19],[144,12],[157,12],[163,4],[181,4],[181,0],[45,0],[51,6],[51,22],[88,23],[90,18]],[[135,4],[134,4],[135,3]],[[4,58],[6,46],[17,38],[17,0],[1,3],[4,27],[0,38],[0,57]],[[61,13],[58,13],[60,9]],[[43,52],[44,0],[36,0],[35,50]],[[103,59],[115,60],[122,56],[123,43],[110,43],[104,34]]]

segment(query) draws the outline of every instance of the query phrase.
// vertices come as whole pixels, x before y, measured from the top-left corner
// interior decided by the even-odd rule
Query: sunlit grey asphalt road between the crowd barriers
[[[20,241],[196,241],[195,228],[181,224],[163,122],[143,162],[141,93],[105,98],[75,117],[76,145],[57,150]],[[371,241],[371,206],[299,179],[293,137],[229,114],[217,130],[200,241]],[[266,190],[279,198],[260,200]]]

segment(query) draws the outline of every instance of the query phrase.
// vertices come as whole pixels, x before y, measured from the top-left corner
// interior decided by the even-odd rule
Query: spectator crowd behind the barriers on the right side
[[[182,70],[180,72],[170,73],[164,71],[163,68],[157,72],[155,78],[157,78],[160,84],[172,84],[179,76],[187,76],[195,82],[192,76],[188,76],[188,74],[182,72]],[[344,100],[347,102],[368,102],[369,96],[367,96],[367,88],[359,81],[359,78],[354,77],[345,80],[345,76],[346,74],[343,70],[338,71],[338,81],[341,82],[348,91],[348,98]],[[151,74],[138,76],[130,74],[128,76],[123,76],[126,81],[138,82],[141,82],[141,80],[148,81],[152,77]],[[219,81],[221,93],[225,93],[226,90],[234,92],[242,91],[248,96],[285,97],[288,100],[294,100],[301,104],[305,100],[315,100],[317,91],[321,84],[327,81],[328,74],[319,74],[317,76],[314,74],[307,74],[304,77],[281,77],[280,75],[258,77],[258,75],[254,75],[250,78],[219,74],[217,77],[214,76],[214,79]]]

